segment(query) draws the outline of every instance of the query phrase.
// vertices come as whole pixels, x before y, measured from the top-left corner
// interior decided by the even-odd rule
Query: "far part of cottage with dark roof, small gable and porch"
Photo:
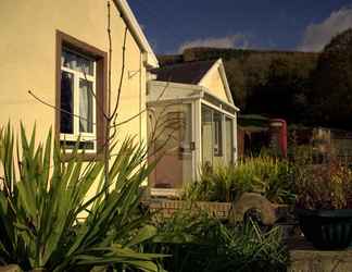
[[[168,194],[199,176],[202,164],[237,159],[237,112],[223,61],[166,65],[148,83],[149,139],[161,156],[152,193]]]

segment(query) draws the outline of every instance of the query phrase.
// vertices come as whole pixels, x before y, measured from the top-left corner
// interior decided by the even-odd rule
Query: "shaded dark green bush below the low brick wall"
[[[286,271],[288,256],[277,227],[262,233],[252,221],[226,226],[187,209],[161,220],[158,230],[150,247],[172,256],[163,259],[167,271]]]

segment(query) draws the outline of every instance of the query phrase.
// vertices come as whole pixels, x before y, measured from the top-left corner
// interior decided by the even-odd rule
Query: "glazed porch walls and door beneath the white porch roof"
[[[235,127],[236,110],[213,97],[150,106],[149,156],[160,158],[149,178],[151,188],[180,189],[199,177],[204,164],[234,163]]]

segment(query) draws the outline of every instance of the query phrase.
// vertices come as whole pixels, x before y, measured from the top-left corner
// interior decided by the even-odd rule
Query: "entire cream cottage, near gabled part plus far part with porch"
[[[39,139],[52,127],[68,148],[79,137],[83,159],[99,159],[122,79],[118,137],[163,154],[152,187],[180,188],[202,164],[236,161],[238,109],[222,60],[158,69],[126,0],[4,0],[0,10],[0,125],[36,123]]]

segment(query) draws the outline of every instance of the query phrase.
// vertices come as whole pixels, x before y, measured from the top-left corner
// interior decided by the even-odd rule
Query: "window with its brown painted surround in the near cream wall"
[[[56,133],[61,145],[102,156],[106,53],[58,32]],[[87,159],[88,159],[87,157]]]

